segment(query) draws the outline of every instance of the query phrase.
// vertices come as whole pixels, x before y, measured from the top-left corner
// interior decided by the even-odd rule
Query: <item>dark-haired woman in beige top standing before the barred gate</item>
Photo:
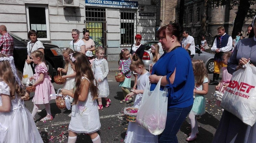
[[[95,43],[92,39],[90,39],[90,32],[86,28],[83,29],[84,37],[82,40],[85,43],[85,51],[94,51],[95,50]]]

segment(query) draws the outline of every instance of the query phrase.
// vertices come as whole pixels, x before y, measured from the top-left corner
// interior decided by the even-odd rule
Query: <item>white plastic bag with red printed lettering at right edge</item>
[[[245,64],[245,68],[233,73],[225,89],[221,107],[253,126],[256,122],[256,67]]]

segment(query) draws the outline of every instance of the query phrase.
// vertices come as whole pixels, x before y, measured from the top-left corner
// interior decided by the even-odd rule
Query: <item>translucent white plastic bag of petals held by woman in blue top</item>
[[[150,92],[148,80],[136,116],[136,124],[153,135],[162,133],[166,123],[168,90],[166,88],[163,91],[160,90],[161,79],[153,92]]]

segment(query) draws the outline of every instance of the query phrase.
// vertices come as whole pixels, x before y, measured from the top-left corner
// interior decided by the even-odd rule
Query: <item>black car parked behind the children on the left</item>
[[[23,72],[25,60],[27,59],[27,44],[28,40],[22,39],[19,36],[11,33],[8,33],[13,37],[14,40],[14,63],[18,70]],[[62,50],[54,45],[49,43],[43,43],[44,45],[44,58],[47,62],[48,73],[50,76],[54,76],[56,73],[56,69],[58,67],[63,67],[65,61],[63,60]],[[33,67],[32,67],[33,68]]]

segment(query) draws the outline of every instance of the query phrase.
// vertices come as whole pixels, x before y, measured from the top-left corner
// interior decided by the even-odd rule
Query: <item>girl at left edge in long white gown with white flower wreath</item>
[[[0,53],[0,69],[0,142],[43,143],[31,113],[21,100],[25,91],[13,57]]]

